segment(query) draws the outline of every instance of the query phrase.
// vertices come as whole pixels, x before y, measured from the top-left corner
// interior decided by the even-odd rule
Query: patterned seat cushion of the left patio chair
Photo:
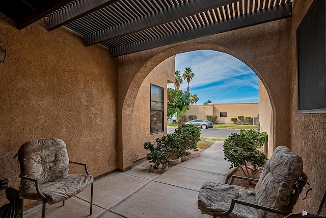
[[[91,175],[67,174],[51,182],[39,185],[40,191],[46,197],[48,204],[55,204],[67,200],[82,191],[93,182]],[[23,199],[32,199],[42,201],[36,188],[31,187],[20,193]]]

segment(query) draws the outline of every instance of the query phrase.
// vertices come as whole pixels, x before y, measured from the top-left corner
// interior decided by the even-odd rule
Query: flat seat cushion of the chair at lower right
[[[198,207],[202,213],[213,215],[213,212],[227,211],[232,199],[256,204],[256,198],[252,191],[228,184],[206,181],[199,191]],[[256,208],[235,204],[233,211],[223,217],[259,218],[260,216]]]

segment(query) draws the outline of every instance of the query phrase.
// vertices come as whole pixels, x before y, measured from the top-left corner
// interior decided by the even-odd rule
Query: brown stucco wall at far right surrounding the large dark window
[[[296,61],[296,29],[307,13],[312,0],[294,2],[293,17],[289,28],[289,63],[291,75],[290,95],[290,136],[291,149],[304,161],[304,172],[313,188],[306,200],[298,201],[295,210],[307,209],[316,213],[322,195],[326,189],[326,114],[297,113],[297,61]],[[313,72],[312,72],[313,74]],[[307,188],[305,189],[307,190]],[[302,199],[302,198],[301,198]],[[322,214],[326,216],[326,205]]]

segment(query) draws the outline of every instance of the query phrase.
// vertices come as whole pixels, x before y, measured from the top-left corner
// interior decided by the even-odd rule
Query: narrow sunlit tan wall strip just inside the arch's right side
[[[264,146],[264,153],[268,158],[273,154],[273,108],[269,101],[269,96],[266,88],[259,80],[258,83],[258,96],[259,96],[259,129],[261,132],[268,134],[267,146]]]

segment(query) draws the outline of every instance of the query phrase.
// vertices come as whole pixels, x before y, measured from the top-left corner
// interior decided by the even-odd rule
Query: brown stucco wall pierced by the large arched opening
[[[288,51],[287,22],[288,19],[282,19],[119,57],[119,168],[127,167],[124,162],[132,159],[132,156],[124,155],[128,148],[124,148],[123,139],[129,135],[128,120],[132,119],[131,112],[142,82],[158,63],[173,55],[194,50],[225,52],[251,67],[270,93],[275,114],[274,143],[289,144],[288,60],[282,58]]]

